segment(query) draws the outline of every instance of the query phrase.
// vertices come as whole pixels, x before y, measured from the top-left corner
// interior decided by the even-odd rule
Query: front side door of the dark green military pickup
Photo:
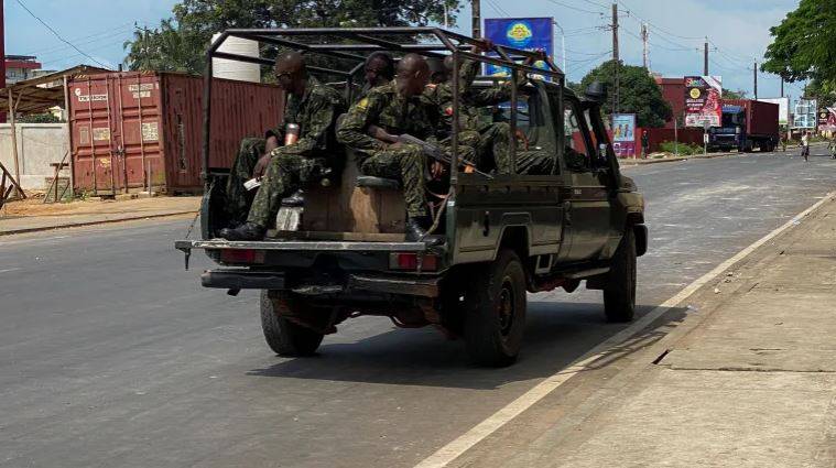
[[[590,132],[590,115],[577,99],[565,100],[564,165],[568,261],[595,259],[607,244],[610,225],[609,177]]]

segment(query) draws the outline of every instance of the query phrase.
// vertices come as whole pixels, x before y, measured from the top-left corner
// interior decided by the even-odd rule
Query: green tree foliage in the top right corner
[[[763,55],[763,72],[788,81],[816,79],[824,89],[836,87],[836,2],[801,0],[781,24],[770,29],[772,44]]]

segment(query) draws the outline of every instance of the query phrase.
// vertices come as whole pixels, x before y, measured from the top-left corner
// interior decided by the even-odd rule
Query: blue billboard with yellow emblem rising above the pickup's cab
[[[491,18],[485,20],[485,39],[495,44],[521,48],[523,51],[543,50],[554,57],[554,19],[552,18]],[[496,55],[496,54],[493,54]],[[544,62],[535,67],[549,69]],[[486,65],[486,75],[509,76],[507,67]]]

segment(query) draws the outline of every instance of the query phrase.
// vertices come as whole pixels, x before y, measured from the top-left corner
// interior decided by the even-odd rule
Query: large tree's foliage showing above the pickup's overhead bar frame
[[[158,28],[138,28],[124,43],[130,69],[202,73],[211,35],[231,28],[426,25],[459,0],[183,0]]]

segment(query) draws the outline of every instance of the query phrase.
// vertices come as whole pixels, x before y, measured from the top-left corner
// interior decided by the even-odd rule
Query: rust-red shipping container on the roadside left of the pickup
[[[202,77],[122,72],[75,78],[68,86],[76,191],[202,189]],[[216,78],[211,106],[210,165],[229,167],[241,139],[263,137],[279,124],[284,95],[272,85]]]

